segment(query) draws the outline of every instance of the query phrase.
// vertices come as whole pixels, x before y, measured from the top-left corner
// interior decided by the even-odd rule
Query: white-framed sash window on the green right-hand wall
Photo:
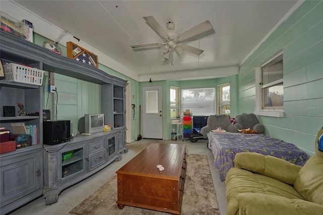
[[[256,68],[256,113],[283,117],[284,81],[283,53]]]

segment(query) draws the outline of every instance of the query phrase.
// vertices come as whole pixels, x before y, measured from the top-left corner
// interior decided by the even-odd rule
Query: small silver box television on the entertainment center
[[[80,133],[96,133],[103,131],[104,114],[84,114],[78,123]]]

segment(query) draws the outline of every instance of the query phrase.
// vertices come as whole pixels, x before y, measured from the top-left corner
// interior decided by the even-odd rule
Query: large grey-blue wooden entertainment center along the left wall
[[[81,64],[73,59],[37,44],[0,31],[2,63],[15,63],[39,68],[101,86],[101,114],[110,131],[78,135],[72,141],[57,145],[43,144],[41,116],[4,117],[0,126],[12,130],[11,123],[36,125],[37,145],[19,148],[0,155],[1,214],[37,198],[45,197],[46,204],[58,201],[60,192],[93,175],[114,160],[121,160],[125,146],[124,87],[125,80]],[[28,113],[42,113],[42,86],[0,81],[1,106],[25,105]],[[41,114],[40,114],[41,115]]]

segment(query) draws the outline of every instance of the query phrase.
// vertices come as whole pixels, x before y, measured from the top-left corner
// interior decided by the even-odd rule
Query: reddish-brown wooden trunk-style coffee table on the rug
[[[180,214],[186,146],[152,143],[116,173],[118,207],[125,205]],[[165,170],[159,171],[156,166]]]

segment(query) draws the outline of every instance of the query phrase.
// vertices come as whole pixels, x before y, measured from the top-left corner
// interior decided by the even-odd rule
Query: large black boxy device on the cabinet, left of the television
[[[57,145],[71,140],[71,121],[44,121],[43,144]]]

